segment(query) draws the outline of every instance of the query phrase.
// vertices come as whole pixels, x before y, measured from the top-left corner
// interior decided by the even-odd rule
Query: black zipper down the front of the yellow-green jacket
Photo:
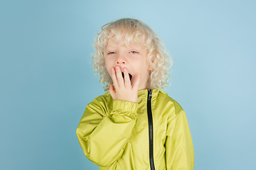
[[[150,169],[155,170],[154,168],[154,155],[153,155],[153,118],[152,118],[152,111],[151,111],[151,95],[152,90],[148,89],[148,98],[147,98],[147,113],[148,113],[148,120],[149,120],[149,163]]]

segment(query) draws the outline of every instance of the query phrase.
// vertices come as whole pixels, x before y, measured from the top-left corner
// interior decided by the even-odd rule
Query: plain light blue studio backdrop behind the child
[[[98,169],[75,130],[104,94],[100,27],[137,18],[173,57],[164,89],[188,118],[196,170],[255,169],[256,1],[1,1],[0,169]]]

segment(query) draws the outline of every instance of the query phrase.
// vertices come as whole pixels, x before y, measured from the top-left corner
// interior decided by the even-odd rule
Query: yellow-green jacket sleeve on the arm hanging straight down
[[[176,116],[168,120],[166,137],[166,169],[192,170],[194,167],[194,151],[191,132],[185,112],[181,109]]]

